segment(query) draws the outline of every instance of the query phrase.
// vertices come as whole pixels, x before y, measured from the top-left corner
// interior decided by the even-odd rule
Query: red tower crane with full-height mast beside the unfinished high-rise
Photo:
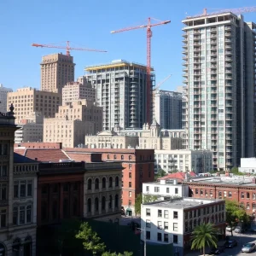
[[[126,27],[123,29],[115,30],[112,31],[111,33],[118,33],[118,32],[125,32],[125,31],[130,31],[134,29],[139,29],[139,28],[147,28],[147,108],[146,108],[146,121],[149,124],[151,120],[151,115],[150,115],[150,108],[151,108],[151,103],[152,103],[152,89],[151,89],[151,38],[152,38],[152,31],[151,27],[152,26],[160,26],[160,25],[166,25],[167,23],[170,23],[171,20],[165,20],[165,21],[160,21],[159,23],[154,23],[151,24],[151,19],[155,20],[153,18],[148,18],[148,24],[141,25],[141,26],[130,26]]]

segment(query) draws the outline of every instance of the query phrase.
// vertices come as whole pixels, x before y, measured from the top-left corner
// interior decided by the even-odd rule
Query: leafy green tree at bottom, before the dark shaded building
[[[83,240],[84,249],[91,251],[94,255],[103,253],[106,248],[104,242],[100,242],[101,238],[91,229],[87,222],[80,225],[79,233],[75,237]]]

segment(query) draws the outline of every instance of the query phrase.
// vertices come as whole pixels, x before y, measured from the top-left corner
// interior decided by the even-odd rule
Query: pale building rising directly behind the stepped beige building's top
[[[87,99],[96,102],[96,89],[86,79],[79,78],[78,82],[69,82],[62,89],[62,104]]]

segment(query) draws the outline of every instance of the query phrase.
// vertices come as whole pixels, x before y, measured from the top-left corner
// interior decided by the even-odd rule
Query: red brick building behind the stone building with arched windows
[[[122,207],[127,215],[134,214],[137,194],[143,192],[143,183],[154,181],[154,149],[121,148],[63,148],[72,160],[84,160],[86,154],[102,154],[103,161],[120,161],[123,167]]]

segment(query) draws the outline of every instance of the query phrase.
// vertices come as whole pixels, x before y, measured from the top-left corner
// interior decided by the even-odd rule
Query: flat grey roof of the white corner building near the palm
[[[222,202],[224,200],[220,199],[195,199],[190,197],[184,197],[181,199],[173,199],[171,201],[155,201],[150,203],[145,203],[143,206],[150,206],[150,207],[163,207],[169,209],[186,209],[186,208],[193,208],[199,207],[201,205],[208,205],[213,204],[216,202]]]

